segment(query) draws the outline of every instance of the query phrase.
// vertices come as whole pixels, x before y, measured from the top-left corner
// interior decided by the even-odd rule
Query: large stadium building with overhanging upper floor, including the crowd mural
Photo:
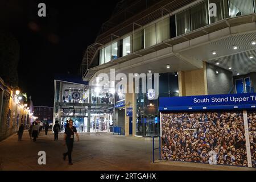
[[[121,1],[86,49],[82,78],[96,97],[113,94],[124,135],[160,135],[163,159],[255,167],[255,13],[254,0]],[[123,77],[99,89],[113,69]],[[129,73],[158,73],[147,77],[158,88],[115,87]]]

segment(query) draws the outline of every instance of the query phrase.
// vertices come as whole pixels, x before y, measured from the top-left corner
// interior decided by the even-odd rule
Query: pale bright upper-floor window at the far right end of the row
[[[229,0],[229,16],[236,17],[254,13],[253,0]]]

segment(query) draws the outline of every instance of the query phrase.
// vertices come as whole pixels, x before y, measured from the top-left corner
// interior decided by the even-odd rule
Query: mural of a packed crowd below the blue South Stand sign
[[[255,167],[256,113],[248,113]],[[162,158],[248,167],[242,111],[162,114]]]

